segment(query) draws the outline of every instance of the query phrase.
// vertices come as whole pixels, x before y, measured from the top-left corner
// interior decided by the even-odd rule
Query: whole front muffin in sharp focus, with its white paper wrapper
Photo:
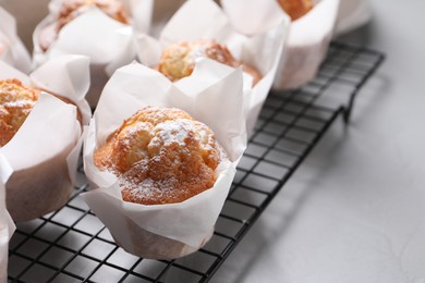
[[[84,139],[92,189],[82,198],[130,254],[180,258],[214,232],[246,148],[246,127],[242,70],[208,61],[199,67],[211,63],[227,72],[205,67],[208,84],[195,72],[180,89],[133,63],[104,88]]]

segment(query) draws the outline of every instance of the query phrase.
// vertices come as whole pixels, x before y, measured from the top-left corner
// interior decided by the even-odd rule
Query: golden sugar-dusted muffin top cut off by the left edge
[[[40,93],[15,78],[0,81],[0,147],[8,144],[20,130]]]

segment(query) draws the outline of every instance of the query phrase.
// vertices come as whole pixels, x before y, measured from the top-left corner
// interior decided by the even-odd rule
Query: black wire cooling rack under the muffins
[[[359,90],[382,60],[377,51],[333,42],[313,82],[270,93],[212,238],[185,260],[143,259],[118,247],[78,197],[87,187],[80,173],[65,207],[17,224],[9,281],[207,282],[333,121],[340,114],[349,121]]]

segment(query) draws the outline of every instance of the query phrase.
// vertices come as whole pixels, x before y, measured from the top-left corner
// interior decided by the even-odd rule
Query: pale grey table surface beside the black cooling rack
[[[23,2],[36,1],[1,0]],[[372,4],[373,22],[341,40],[387,60],[351,125],[331,127],[211,282],[425,283],[425,1]]]

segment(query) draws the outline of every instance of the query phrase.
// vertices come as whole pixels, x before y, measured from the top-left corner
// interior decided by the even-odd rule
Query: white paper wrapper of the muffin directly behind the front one
[[[235,59],[255,67],[263,75],[254,87],[248,75],[244,83],[245,103],[248,106],[246,126],[251,135],[281,60],[289,17],[280,10],[270,10],[264,24],[255,33],[242,35],[232,27],[228,16],[214,1],[190,0],[167,23],[158,40],[148,36],[139,37],[139,60],[155,66],[162,48],[180,40],[212,38],[227,46]]]

